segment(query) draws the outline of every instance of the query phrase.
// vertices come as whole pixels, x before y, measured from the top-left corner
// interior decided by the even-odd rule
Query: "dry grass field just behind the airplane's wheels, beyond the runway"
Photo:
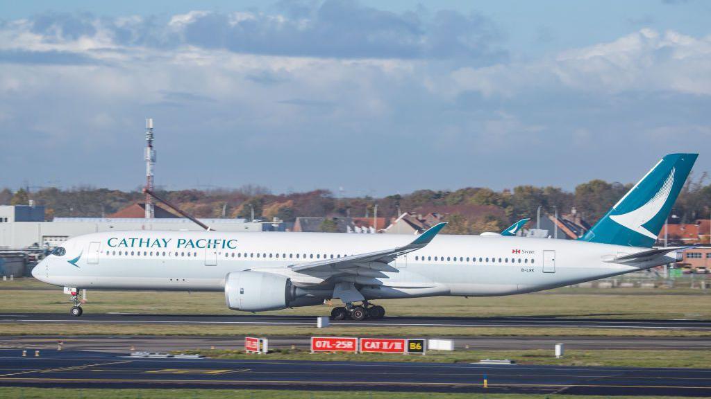
[[[86,312],[238,315],[222,293],[92,291]],[[69,311],[61,288],[33,278],[0,282],[0,302],[8,312]],[[379,300],[398,316],[555,316],[622,319],[711,319],[711,290],[559,288],[506,297],[434,297]],[[329,315],[331,306],[297,307],[267,315]]]

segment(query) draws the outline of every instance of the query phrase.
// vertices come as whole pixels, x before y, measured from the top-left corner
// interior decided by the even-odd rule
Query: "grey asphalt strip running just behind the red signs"
[[[383,337],[392,337],[383,336]],[[454,340],[456,350],[553,350],[564,343],[567,349],[638,349],[638,350],[711,350],[711,339],[693,337],[447,337]],[[58,342],[65,350],[169,352],[188,349],[242,349],[244,337],[175,337],[175,336],[15,336],[0,337],[2,348],[56,349]],[[270,348],[308,349],[309,337],[269,337]]]

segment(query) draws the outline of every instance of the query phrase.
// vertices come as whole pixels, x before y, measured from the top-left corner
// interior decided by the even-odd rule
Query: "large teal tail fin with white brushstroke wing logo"
[[[697,156],[666,155],[581,240],[651,248]]]

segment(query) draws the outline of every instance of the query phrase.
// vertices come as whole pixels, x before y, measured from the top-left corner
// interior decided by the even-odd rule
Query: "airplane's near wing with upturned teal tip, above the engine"
[[[444,226],[446,225],[447,223],[443,222],[432,226],[431,228],[427,229],[427,231],[424,231],[424,233],[417,236],[417,239],[415,239],[415,241],[412,241],[410,244],[407,244],[405,246],[384,249],[383,251],[359,253],[357,255],[344,256],[343,258],[324,259],[323,261],[299,263],[297,265],[291,266],[290,268],[291,270],[297,273],[304,273],[311,271],[345,270],[349,268],[358,268],[358,266],[363,263],[376,263],[376,265],[380,263],[380,265],[382,265],[382,267],[380,267],[381,270],[390,270],[390,266],[387,266],[387,263],[394,261],[397,256],[400,256],[404,253],[417,251],[420,248],[424,248],[424,246],[427,246],[427,244],[429,244],[429,242],[434,239],[434,236],[437,236],[437,233],[439,233],[439,231],[442,230],[442,228],[444,228]],[[370,266],[370,268],[372,269],[373,266]],[[375,266],[375,268],[377,269],[378,266]]]

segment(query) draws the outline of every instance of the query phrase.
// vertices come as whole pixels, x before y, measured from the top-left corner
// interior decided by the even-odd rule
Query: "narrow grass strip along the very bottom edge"
[[[547,399],[549,395],[490,393],[348,392],[306,390],[219,390],[219,389],[68,389],[0,388],[6,399]],[[607,396],[550,395],[557,399],[604,399]],[[671,396],[615,396],[616,399],[680,399]],[[688,398],[688,397],[686,397]]]

